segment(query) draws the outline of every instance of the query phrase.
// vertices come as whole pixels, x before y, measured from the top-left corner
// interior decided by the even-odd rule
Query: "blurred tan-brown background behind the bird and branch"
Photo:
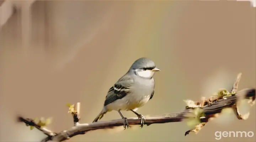
[[[108,89],[144,56],[161,70],[154,77],[154,98],[137,111],[144,116],[183,111],[184,99],[231,89],[239,72],[239,89],[255,88],[255,17],[249,1],[1,0],[0,141],[45,137],[17,123],[17,115],[52,117],[48,127],[54,132],[70,128],[66,103],[81,102],[81,122],[91,122]],[[256,133],[255,106],[248,120],[233,112],[223,115],[186,137],[186,122],[175,122],[97,130],[68,141],[256,140],[214,136],[215,131]],[[119,118],[112,111],[102,121]]]

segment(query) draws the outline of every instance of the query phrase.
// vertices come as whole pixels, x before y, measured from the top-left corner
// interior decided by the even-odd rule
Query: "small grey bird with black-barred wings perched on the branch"
[[[100,120],[104,114],[116,110],[124,120],[124,129],[129,127],[127,118],[120,110],[132,111],[140,119],[141,127],[145,117],[135,111],[145,105],[154,95],[154,74],[160,71],[148,58],[136,60],[129,71],[112,86],[106,96],[104,107],[93,122]]]

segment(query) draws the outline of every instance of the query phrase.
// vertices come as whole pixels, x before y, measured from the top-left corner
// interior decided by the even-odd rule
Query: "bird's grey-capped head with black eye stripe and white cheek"
[[[136,60],[129,71],[133,71],[137,76],[143,78],[152,78],[156,71],[160,71],[155,63],[148,58],[140,58]]]

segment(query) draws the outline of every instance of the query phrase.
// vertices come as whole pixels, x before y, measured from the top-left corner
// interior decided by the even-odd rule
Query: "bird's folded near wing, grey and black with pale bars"
[[[106,96],[104,106],[114,102],[115,100],[122,99],[129,94],[129,89],[133,86],[134,80],[129,75],[124,75],[120,78],[114,86],[112,86]]]

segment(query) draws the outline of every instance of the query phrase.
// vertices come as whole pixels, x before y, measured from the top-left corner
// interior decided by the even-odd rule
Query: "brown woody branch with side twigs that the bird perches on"
[[[196,109],[198,108],[202,110],[204,116],[201,116],[201,115],[198,116],[200,123],[195,126],[194,130],[187,131],[185,135],[187,135],[191,131],[197,133],[199,130],[202,129],[202,127],[206,124],[206,122],[209,121],[210,118],[216,117],[217,116],[216,114],[221,113],[221,111],[224,108],[233,108],[234,105],[236,105],[236,103],[239,102],[239,100],[241,99],[250,99],[249,103],[251,104],[255,102],[255,88],[242,89],[241,91],[236,92],[240,78],[241,78],[241,75],[239,74],[237,80],[234,83],[234,87],[231,91],[230,96],[228,95],[222,96],[218,98],[215,101],[215,103],[212,103],[210,105],[208,103],[203,107],[193,107],[193,108],[186,107],[187,109],[185,109],[183,112],[180,112],[180,113],[162,114],[162,115],[156,115],[149,118],[145,118],[145,124],[149,126],[151,124],[180,122],[193,117],[197,119],[197,117],[194,116],[196,113],[193,113],[193,112],[196,111],[198,113],[199,111]],[[233,91],[236,93],[234,93]],[[71,105],[71,106],[74,106],[74,105]],[[98,122],[89,123],[89,124],[87,123],[79,124],[80,103],[77,103],[74,106],[73,110],[72,110],[72,107],[70,108],[71,108],[71,114],[73,115],[73,119],[74,119],[74,126],[68,130],[64,130],[59,133],[53,133],[52,131],[46,128],[42,129],[42,127],[36,126],[36,123],[34,123],[34,121],[31,119],[24,119],[22,117],[20,117],[19,119],[20,121],[24,122],[27,126],[35,126],[38,130],[43,131],[48,137],[44,138],[42,142],[47,142],[49,140],[61,142],[73,136],[85,134],[88,131],[93,131],[98,129],[112,129],[117,126],[123,126],[123,119],[116,119],[116,120],[110,120],[110,121],[98,121]],[[128,122],[129,122],[129,125],[141,125],[140,119],[137,117],[128,118]]]

